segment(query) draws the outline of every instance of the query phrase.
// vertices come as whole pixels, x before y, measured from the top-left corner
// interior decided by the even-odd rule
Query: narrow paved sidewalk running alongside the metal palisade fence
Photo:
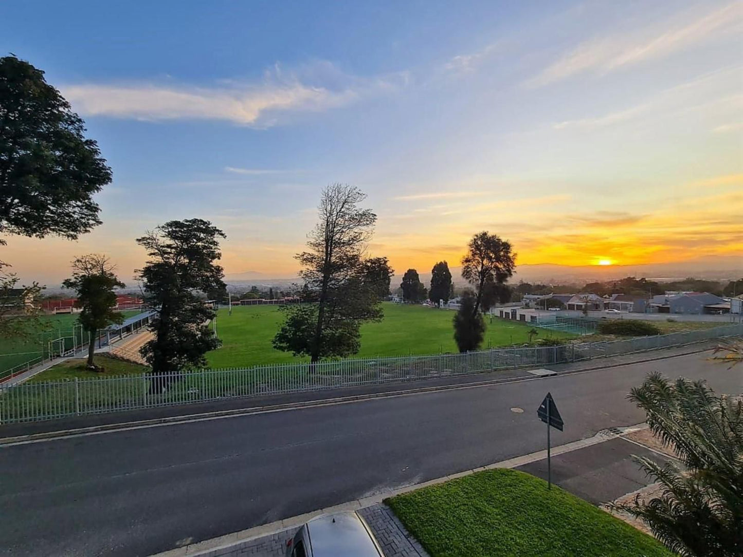
[[[693,345],[684,345],[676,348],[597,358],[566,364],[549,366],[557,374],[574,374],[594,369],[611,368],[618,365],[627,365],[638,362],[647,362],[656,359],[666,359],[674,356],[684,356],[715,348],[717,342],[701,342]],[[366,398],[398,396],[415,394],[426,391],[438,391],[447,388],[463,388],[467,386],[491,385],[513,380],[536,379],[528,369],[507,369],[490,371],[480,374],[441,377],[431,380],[415,380],[410,382],[395,382],[381,385],[366,385],[363,387],[334,388],[321,391],[306,391],[293,394],[275,394],[264,397],[245,397],[227,400],[217,400],[207,403],[188,405],[163,406],[158,408],[144,408],[134,411],[112,412],[110,414],[94,414],[80,417],[68,417],[60,420],[42,422],[13,423],[0,425],[0,442],[3,438],[31,434],[45,434],[72,429],[94,428],[95,430],[110,429],[120,426],[146,425],[148,423],[164,423],[178,420],[194,419],[205,415],[241,414],[251,411],[300,407],[329,402],[364,400]]]

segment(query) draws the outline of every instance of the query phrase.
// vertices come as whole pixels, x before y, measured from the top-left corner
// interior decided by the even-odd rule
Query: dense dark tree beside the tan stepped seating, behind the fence
[[[204,354],[221,345],[209,328],[216,312],[197,296],[225,287],[222,267],[215,264],[221,258],[218,238],[225,238],[224,232],[200,218],[169,221],[137,238],[149,257],[139,278],[146,302],[157,312],[150,324],[155,338],[141,349],[160,376],[153,392],[166,389],[181,369],[206,365]]]

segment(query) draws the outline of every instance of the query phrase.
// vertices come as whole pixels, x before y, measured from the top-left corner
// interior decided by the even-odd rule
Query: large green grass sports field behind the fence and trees
[[[452,319],[454,311],[420,305],[385,302],[384,319],[361,327],[361,350],[354,357],[408,356],[456,352]],[[289,352],[277,351],[271,340],[279,330],[283,313],[276,306],[233,306],[230,316],[219,310],[217,335],[222,347],[207,354],[212,368],[297,362]],[[531,325],[486,317],[487,333],[483,348],[528,342]],[[538,329],[542,338],[570,339],[575,335]]]

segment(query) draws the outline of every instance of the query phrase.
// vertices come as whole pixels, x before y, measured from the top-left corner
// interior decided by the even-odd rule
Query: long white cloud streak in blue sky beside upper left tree
[[[319,68],[319,71],[317,71]],[[330,62],[298,71],[271,68],[259,82],[223,81],[221,86],[126,84],[62,88],[85,116],[136,120],[227,120],[243,126],[276,125],[281,114],[325,111],[404,85],[403,74],[373,79],[348,76]]]

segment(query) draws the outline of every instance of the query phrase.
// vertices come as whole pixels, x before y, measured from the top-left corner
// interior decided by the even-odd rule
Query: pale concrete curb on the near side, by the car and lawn
[[[645,429],[646,424],[640,423],[637,426],[629,426],[626,428],[618,428],[622,430],[622,433],[629,431],[637,431],[638,429]],[[585,449],[598,443],[603,443],[610,439],[616,438],[616,435],[607,435],[597,433],[593,437],[586,439],[580,439],[573,441],[572,443],[565,443],[557,447],[552,447],[552,456],[562,455],[566,452],[576,451],[578,449]],[[277,534],[284,530],[291,528],[297,528],[305,524],[305,522],[321,515],[332,515],[337,512],[357,511],[367,506],[382,503],[385,499],[395,497],[403,493],[415,491],[423,487],[435,486],[438,483],[444,483],[445,481],[455,480],[456,478],[464,478],[475,472],[483,472],[484,470],[492,470],[496,468],[516,468],[523,466],[536,460],[543,460],[547,457],[547,450],[536,451],[529,453],[528,455],[521,455],[519,457],[509,458],[507,460],[501,460],[487,466],[480,466],[479,468],[473,468],[470,470],[464,470],[464,472],[457,472],[442,476],[441,478],[435,478],[434,480],[424,481],[422,483],[414,483],[409,486],[400,487],[398,489],[389,489],[383,492],[379,492],[375,495],[369,495],[368,497],[354,499],[354,501],[347,501],[340,505],[328,506],[324,509],[317,509],[311,512],[305,512],[302,515],[292,516],[290,518],[284,518],[279,521],[273,521],[268,524],[261,524],[253,528],[247,528],[247,530],[240,530],[239,532],[233,532],[231,534],[221,535],[218,538],[212,538],[210,540],[199,541],[195,544],[188,544],[184,547],[177,547],[172,550],[167,550],[163,553],[157,553],[151,557],[183,557],[183,556],[198,556],[204,555],[204,553],[227,549],[235,544],[242,543],[244,541],[251,541],[255,538],[262,538],[265,535]]]

